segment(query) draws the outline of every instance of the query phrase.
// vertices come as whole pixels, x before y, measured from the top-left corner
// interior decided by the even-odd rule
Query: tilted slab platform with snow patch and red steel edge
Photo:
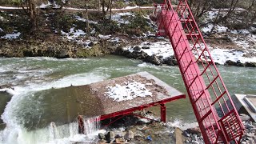
[[[151,106],[161,107],[161,120],[166,122],[166,102],[185,98],[173,87],[168,86],[147,72],[113,78],[86,86],[74,86],[87,110],[82,115],[97,117],[98,120],[132,114]],[[82,120],[78,117],[78,122]]]

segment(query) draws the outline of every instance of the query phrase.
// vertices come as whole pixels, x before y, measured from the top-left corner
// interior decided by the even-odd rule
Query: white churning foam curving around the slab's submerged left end
[[[23,98],[28,96],[33,96],[33,93],[39,90],[48,90],[52,87],[62,88],[70,85],[82,86],[90,84],[92,82],[100,82],[109,75],[100,74],[96,72],[84,73],[84,74],[74,74],[66,76],[64,78],[54,80],[52,82],[42,82],[42,83],[29,83],[26,86],[14,86],[14,89],[2,89],[6,90],[8,93],[13,94],[10,102],[6,105],[6,109],[2,114],[2,120],[6,123],[5,130],[0,131],[0,143],[70,143],[70,141],[80,141],[84,140],[85,136],[81,134],[74,133],[74,127],[78,126],[76,124],[68,124],[62,128],[62,126],[57,126],[58,129],[63,129],[65,134],[56,132],[55,138],[51,138],[48,129],[40,129],[34,132],[28,132],[21,124],[21,119],[18,119],[14,114],[19,110],[19,102]],[[32,93],[32,94],[31,94]],[[74,126],[76,125],[76,126]],[[54,127],[53,125],[51,125]],[[71,130],[72,129],[72,130]],[[63,131],[60,130],[60,131]],[[72,132],[67,132],[72,131]],[[54,130],[51,130],[53,133]],[[50,139],[51,138],[51,139]]]

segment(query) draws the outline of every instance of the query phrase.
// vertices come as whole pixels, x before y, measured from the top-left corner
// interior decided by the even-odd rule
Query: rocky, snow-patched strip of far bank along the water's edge
[[[54,58],[88,58],[105,54],[117,54],[126,58],[141,59],[154,65],[178,65],[170,42],[166,39],[126,38],[108,36],[109,38],[89,38],[83,43],[66,39],[55,41],[15,40],[2,41],[2,57],[54,57]],[[256,67],[254,57],[244,57],[242,50],[211,49],[214,62],[226,66]]]

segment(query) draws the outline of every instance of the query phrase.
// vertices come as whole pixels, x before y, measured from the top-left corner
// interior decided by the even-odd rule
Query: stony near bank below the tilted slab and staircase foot
[[[244,116],[244,115],[243,115]],[[133,119],[130,121],[130,119]],[[130,126],[124,126],[130,124]],[[242,136],[242,144],[256,142],[256,123],[243,119],[246,128]],[[121,122],[114,123],[106,129],[106,133],[98,134],[98,143],[205,143],[198,123],[176,125],[171,122],[162,123],[142,121],[142,119],[126,116]]]

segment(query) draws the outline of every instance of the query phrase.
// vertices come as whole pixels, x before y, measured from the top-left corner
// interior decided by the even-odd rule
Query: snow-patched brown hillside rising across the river
[[[169,40],[154,36],[157,26],[149,18],[152,10],[144,7],[150,6],[151,2],[113,1],[112,5],[106,2],[104,12],[98,11],[98,1],[62,2],[62,5],[38,2],[41,9],[37,10],[36,26],[33,27],[24,10],[10,7],[6,10],[8,7],[5,6],[18,4],[3,1],[4,5],[0,7],[0,55],[86,58],[121,54],[156,65],[176,65]],[[200,17],[195,15],[214,62],[255,66],[256,24],[252,22],[250,26],[241,26],[243,14],[248,12],[243,8],[233,10],[228,17],[230,22],[222,20],[229,10],[210,9]]]

